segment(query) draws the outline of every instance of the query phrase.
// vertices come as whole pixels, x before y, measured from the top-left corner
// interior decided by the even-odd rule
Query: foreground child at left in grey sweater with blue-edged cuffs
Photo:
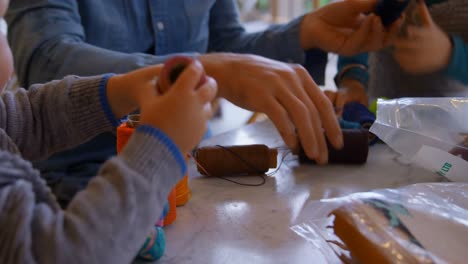
[[[7,0],[0,0],[0,16],[7,6]],[[12,73],[12,58],[3,35],[0,65],[0,87],[4,87]],[[0,263],[133,260],[163,211],[169,191],[184,176],[182,153],[195,147],[205,133],[209,102],[217,91],[212,78],[195,90],[203,68],[192,63],[168,93],[157,95],[155,76],[160,69],[69,76],[1,95]],[[108,160],[62,210],[27,160],[112,131],[120,118],[137,108],[142,125],[121,155]]]

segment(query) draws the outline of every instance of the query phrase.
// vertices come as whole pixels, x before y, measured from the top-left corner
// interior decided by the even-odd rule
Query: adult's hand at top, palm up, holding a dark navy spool
[[[376,51],[396,36],[400,20],[386,30],[372,12],[377,0],[346,0],[328,4],[304,16],[300,43],[304,50],[320,48],[351,56]]]

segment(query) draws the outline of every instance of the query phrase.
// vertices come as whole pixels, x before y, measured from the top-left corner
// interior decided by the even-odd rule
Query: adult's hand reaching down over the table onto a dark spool
[[[335,148],[342,147],[333,106],[302,66],[230,53],[205,54],[199,60],[218,82],[218,96],[268,115],[289,147],[296,149],[300,140],[319,164],[328,161],[325,135]]]

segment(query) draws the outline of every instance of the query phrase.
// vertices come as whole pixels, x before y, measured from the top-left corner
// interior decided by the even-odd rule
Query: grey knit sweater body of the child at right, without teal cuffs
[[[430,7],[434,21],[446,32],[468,42],[468,1],[448,0]],[[430,56],[430,55],[428,55]],[[468,87],[438,72],[411,75],[404,72],[389,50],[369,56],[369,96],[442,97],[468,96]]]

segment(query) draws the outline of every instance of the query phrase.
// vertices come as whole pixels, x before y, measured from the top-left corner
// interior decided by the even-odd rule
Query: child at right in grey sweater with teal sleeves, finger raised
[[[418,1],[421,26],[408,26],[393,50],[340,57],[335,78],[340,88],[328,93],[336,108],[367,104],[367,96],[468,96],[468,5],[464,0]],[[409,16],[409,15],[406,15]]]

